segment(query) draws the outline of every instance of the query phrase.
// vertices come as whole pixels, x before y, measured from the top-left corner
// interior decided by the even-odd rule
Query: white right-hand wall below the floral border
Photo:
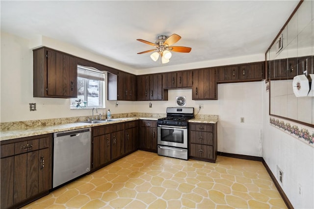
[[[277,166],[283,171],[282,188],[293,207],[313,209],[314,148],[271,126],[268,115],[269,93],[263,93],[263,100],[263,159],[276,178]]]

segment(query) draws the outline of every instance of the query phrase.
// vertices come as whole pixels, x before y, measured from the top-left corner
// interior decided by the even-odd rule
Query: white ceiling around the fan
[[[46,36],[102,55],[132,69],[197,63],[263,54],[298,0],[251,1],[0,1],[1,31],[35,39]],[[160,64],[153,49],[158,35],[178,34],[173,52]]]

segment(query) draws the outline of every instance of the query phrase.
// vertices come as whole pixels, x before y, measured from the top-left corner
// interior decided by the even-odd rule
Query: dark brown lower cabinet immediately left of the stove
[[[140,120],[139,148],[150,152],[157,152],[157,121]]]

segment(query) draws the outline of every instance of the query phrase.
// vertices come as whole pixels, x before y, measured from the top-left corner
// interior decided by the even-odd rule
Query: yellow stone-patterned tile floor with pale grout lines
[[[287,208],[261,162],[216,163],[136,151],[25,209]]]

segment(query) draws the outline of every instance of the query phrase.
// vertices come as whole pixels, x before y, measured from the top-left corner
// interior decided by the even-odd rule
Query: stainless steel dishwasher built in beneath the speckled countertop
[[[90,171],[91,128],[53,134],[52,187]]]

